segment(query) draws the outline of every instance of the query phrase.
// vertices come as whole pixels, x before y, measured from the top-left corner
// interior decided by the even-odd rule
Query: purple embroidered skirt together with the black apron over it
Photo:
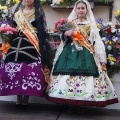
[[[0,64],[0,95],[43,96],[45,77],[41,58],[25,37],[15,37]]]

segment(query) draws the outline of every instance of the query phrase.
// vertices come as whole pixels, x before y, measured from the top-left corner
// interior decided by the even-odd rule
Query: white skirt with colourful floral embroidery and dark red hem
[[[114,87],[105,72],[93,76],[51,76],[48,100],[55,103],[99,106],[118,103]]]

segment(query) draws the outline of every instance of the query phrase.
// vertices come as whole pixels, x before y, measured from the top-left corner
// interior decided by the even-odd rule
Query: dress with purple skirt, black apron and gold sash
[[[15,26],[11,47],[0,66],[0,95],[43,96],[45,77],[37,38],[35,10],[15,13]]]

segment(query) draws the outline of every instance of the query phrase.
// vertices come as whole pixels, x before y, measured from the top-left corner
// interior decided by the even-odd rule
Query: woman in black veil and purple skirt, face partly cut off
[[[40,0],[21,0],[13,25],[18,34],[12,36],[11,47],[0,68],[0,95],[17,95],[19,107],[28,104],[29,96],[44,96],[45,80],[48,82],[51,68]]]

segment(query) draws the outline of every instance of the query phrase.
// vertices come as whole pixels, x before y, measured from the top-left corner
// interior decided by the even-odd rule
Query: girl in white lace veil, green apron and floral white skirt
[[[106,52],[87,0],[78,0],[68,17],[76,26],[61,35],[48,87],[55,103],[101,106],[118,103],[106,74]],[[78,31],[81,39],[74,40]],[[78,36],[79,36],[78,35]]]

